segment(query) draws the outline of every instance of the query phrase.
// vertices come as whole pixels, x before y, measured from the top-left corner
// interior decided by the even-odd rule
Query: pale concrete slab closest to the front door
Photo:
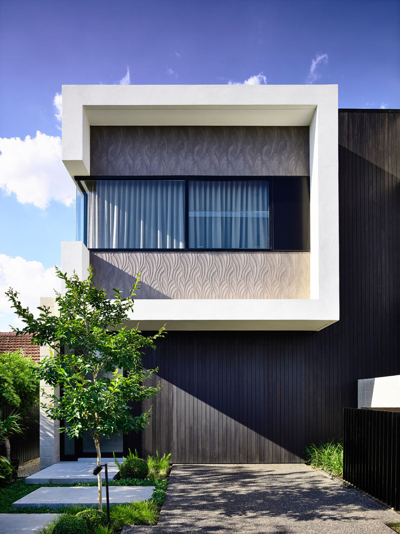
[[[103,461],[103,463],[106,463]],[[79,484],[83,482],[97,482],[97,475],[92,471],[97,462],[94,458],[86,458],[77,462],[57,462],[50,467],[25,478],[25,484]],[[118,467],[114,460],[107,462],[108,478],[114,480],[118,474]],[[106,480],[105,470],[101,471],[102,480]]]

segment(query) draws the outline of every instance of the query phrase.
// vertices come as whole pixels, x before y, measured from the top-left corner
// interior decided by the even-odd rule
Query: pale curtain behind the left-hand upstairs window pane
[[[183,180],[98,180],[91,184],[86,193],[87,247],[185,246]]]

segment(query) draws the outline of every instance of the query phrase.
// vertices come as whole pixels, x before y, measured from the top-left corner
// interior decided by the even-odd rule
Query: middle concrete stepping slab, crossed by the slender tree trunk
[[[111,486],[110,504],[148,500],[153,495],[154,486]],[[103,505],[106,505],[106,488],[103,488]],[[22,499],[13,502],[13,508],[39,508],[48,506],[53,510],[61,506],[97,506],[97,486],[77,488],[38,488]]]

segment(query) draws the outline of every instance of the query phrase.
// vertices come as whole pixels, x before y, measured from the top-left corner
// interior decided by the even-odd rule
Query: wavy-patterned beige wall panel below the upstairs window
[[[309,252],[92,252],[94,283],[137,299],[309,299]]]

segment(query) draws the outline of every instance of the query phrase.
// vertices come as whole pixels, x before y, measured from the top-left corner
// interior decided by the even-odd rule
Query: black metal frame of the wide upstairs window
[[[93,252],[309,252],[309,244],[305,248],[290,248],[282,249],[274,247],[274,235],[276,229],[274,228],[274,182],[275,180],[284,180],[285,178],[295,179],[307,179],[308,180],[308,192],[310,190],[310,177],[309,176],[75,176],[77,189],[81,190],[81,182],[95,182],[98,180],[125,180],[125,181],[143,181],[143,180],[180,180],[185,182],[185,247],[183,248],[89,248]],[[251,180],[252,182],[268,182],[269,183],[269,248],[190,248],[189,244],[189,182],[204,180],[207,182],[243,182],[244,180]],[[78,194],[78,193],[77,193]],[[84,243],[87,243],[87,229],[86,229],[86,202],[84,202],[83,209],[83,233]],[[309,216],[309,205],[308,205]],[[76,221],[78,224],[78,221]]]

